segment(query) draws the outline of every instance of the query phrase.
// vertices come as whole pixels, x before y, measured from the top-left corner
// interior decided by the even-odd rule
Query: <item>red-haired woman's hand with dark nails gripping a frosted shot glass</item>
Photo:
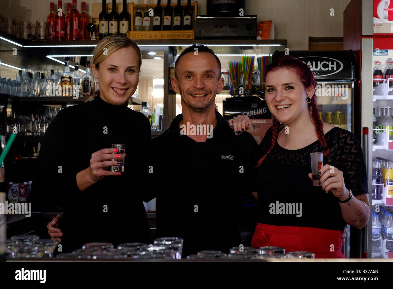
[[[344,196],[348,191],[347,188],[345,188],[343,175],[342,171],[329,164],[325,164],[318,172],[322,190],[326,193],[331,191],[333,195],[338,197],[341,201],[347,199],[344,198]],[[309,173],[309,178],[312,179],[312,173]]]

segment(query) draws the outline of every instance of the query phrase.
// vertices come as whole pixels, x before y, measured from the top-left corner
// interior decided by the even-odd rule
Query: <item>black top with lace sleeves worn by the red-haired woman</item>
[[[260,144],[261,156],[270,148],[271,135],[272,128]],[[325,134],[325,140],[331,152],[323,164],[343,171],[345,186],[353,195],[368,193],[364,156],[356,136],[334,127]],[[323,151],[318,140],[296,150],[284,149],[276,142],[258,169],[258,223],[343,230],[346,224],[338,198],[312,186],[308,176],[310,153]]]

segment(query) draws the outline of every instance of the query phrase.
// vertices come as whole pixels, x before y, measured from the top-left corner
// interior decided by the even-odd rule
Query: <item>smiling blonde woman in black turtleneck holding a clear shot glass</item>
[[[140,189],[151,129],[143,114],[127,107],[140,67],[135,42],[105,37],[95,47],[92,61],[99,90],[90,101],[62,109],[44,135],[32,195],[37,206],[46,206],[43,209],[64,210],[58,216],[64,237],[56,236],[62,252],[88,242],[151,241]],[[110,170],[118,164],[112,159],[119,158],[112,144],[125,144],[128,156],[121,173]]]

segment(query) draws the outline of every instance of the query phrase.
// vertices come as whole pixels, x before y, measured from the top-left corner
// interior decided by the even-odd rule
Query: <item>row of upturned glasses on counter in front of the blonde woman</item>
[[[86,243],[82,249],[72,253],[58,254],[56,257],[67,260],[180,260],[182,258],[183,239],[164,237],[155,239],[153,244],[124,243],[114,248],[111,243]]]

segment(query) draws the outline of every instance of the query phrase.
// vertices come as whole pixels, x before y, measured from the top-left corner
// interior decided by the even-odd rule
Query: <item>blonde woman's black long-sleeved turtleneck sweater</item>
[[[99,95],[56,115],[42,141],[31,194],[36,208],[64,209],[63,252],[87,242],[151,242],[142,202],[149,201],[142,190],[150,141],[149,121],[143,114],[127,104],[107,103]],[[92,153],[112,144],[125,144],[125,171],[105,176],[81,192],[76,174],[90,166]]]

